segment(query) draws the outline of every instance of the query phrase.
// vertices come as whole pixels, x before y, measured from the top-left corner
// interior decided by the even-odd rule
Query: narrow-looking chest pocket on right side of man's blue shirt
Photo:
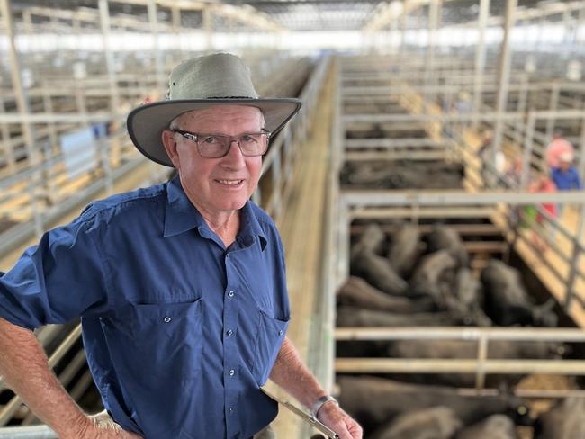
[[[289,318],[274,318],[264,309],[258,309],[260,320],[256,344],[256,361],[252,374],[258,386],[263,386],[268,380],[276,355],[283,345]]]

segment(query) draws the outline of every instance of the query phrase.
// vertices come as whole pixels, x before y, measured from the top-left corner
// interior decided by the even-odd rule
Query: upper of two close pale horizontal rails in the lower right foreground
[[[565,327],[338,327],[336,340],[464,340],[583,342],[585,331]]]

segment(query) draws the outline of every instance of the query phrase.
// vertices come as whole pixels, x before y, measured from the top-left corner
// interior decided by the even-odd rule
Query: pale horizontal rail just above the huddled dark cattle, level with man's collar
[[[470,193],[465,191],[389,191],[389,190],[344,190],[341,199],[348,206],[472,206],[498,203],[531,205],[543,202],[585,202],[585,191],[563,191],[558,193],[529,193],[512,191],[489,191]]]

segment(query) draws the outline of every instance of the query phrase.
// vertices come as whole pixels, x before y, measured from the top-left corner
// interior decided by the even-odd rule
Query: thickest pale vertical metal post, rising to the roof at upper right
[[[491,166],[496,166],[496,155],[500,150],[501,139],[503,137],[504,122],[501,119],[501,113],[506,112],[506,103],[508,103],[508,89],[510,76],[510,34],[514,27],[516,6],[518,0],[507,0],[506,4],[506,18],[504,22],[504,39],[501,43],[500,49],[500,80],[498,84],[498,101],[496,105],[496,128],[493,142],[491,144],[490,159]]]

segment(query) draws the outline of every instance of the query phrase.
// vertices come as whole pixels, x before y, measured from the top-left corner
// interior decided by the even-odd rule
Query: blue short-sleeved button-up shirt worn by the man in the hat
[[[146,438],[247,438],[289,319],[284,251],[253,202],[226,248],[178,179],[94,202],[0,277],[0,317],[81,316],[105,408]]]

